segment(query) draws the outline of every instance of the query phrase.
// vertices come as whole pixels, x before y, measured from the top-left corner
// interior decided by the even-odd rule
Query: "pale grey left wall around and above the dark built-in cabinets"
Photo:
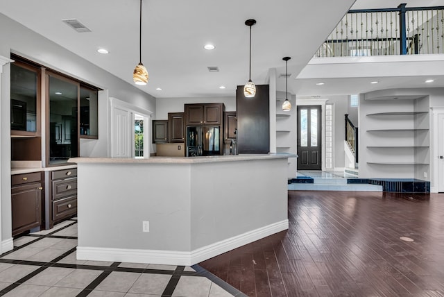
[[[0,56],[10,57],[10,53],[38,62],[64,74],[83,80],[91,85],[101,87],[99,97],[99,140],[80,141],[80,154],[84,151],[95,156],[108,155],[108,127],[103,126],[108,121],[108,96],[127,101],[146,110],[155,110],[155,98],[130,83],[96,67],[92,63],[67,51],[58,44],[47,40],[21,24],[0,14]],[[132,71],[133,65],[130,67]],[[128,73],[131,76],[131,72]],[[1,229],[2,241],[11,237],[10,209],[10,66],[5,65],[1,77],[0,123],[2,142],[1,158]],[[105,121],[106,120],[106,121]],[[44,139],[42,137],[42,139]],[[85,145],[85,146],[84,146]]]

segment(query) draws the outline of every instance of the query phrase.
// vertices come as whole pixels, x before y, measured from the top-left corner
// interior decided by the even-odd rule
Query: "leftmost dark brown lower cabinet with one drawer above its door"
[[[12,236],[42,224],[42,173],[12,176]]]

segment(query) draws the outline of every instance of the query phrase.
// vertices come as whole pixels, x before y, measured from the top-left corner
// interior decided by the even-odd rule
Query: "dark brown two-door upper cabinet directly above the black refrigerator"
[[[223,103],[185,104],[187,126],[221,125]]]

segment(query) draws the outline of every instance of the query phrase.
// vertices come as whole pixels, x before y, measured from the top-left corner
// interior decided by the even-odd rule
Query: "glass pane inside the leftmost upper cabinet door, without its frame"
[[[37,72],[11,64],[11,130],[37,130]]]

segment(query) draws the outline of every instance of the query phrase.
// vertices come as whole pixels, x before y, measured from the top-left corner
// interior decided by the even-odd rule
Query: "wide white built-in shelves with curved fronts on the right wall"
[[[359,105],[359,176],[427,180],[428,96],[393,96],[391,99],[366,94]]]

